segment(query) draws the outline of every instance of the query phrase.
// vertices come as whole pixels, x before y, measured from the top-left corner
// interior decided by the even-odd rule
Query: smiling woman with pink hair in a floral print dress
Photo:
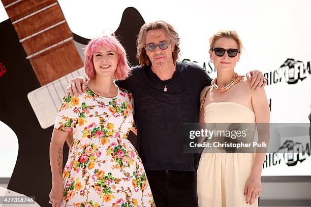
[[[115,37],[95,38],[86,46],[86,91],[65,95],[52,133],[53,206],[154,206],[141,159],[127,140],[130,130],[136,133],[133,97],[114,83],[129,72],[126,51]],[[63,171],[63,146],[71,131]]]

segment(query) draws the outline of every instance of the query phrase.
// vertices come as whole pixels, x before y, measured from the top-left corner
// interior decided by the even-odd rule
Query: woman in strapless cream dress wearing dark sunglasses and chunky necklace
[[[235,31],[220,31],[210,38],[210,59],[217,78],[201,92],[199,122],[269,122],[264,89],[252,90],[248,80],[234,71],[241,49]],[[267,132],[258,129],[259,136]],[[258,206],[264,157],[265,153],[203,153],[197,171],[199,206]]]

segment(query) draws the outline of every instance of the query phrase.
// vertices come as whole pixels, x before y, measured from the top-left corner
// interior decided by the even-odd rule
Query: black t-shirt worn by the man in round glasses
[[[177,62],[173,78],[167,81],[144,65],[133,67],[125,81],[116,81],[134,96],[137,150],[145,169],[197,169],[199,155],[183,152],[182,127],[198,122],[200,92],[211,81],[202,67],[183,62]]]

